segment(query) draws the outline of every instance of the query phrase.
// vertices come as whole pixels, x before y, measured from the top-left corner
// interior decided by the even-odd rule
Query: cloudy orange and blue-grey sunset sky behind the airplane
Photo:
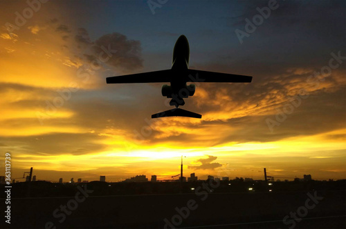
[[[1,161],[49,181],[170,179],[181,155],[201,179],[346,179],[346,3],[276,4],[241,43],[268,1],[0,1]],[[105,78],[171,68],[181,34],[190,68],[253,81],[197,85],[202,119],[151,119],[163,83]]]

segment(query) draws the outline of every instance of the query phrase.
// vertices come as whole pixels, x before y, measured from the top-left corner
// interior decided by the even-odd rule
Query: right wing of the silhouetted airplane
[[[226,74],[189,69],[188,82],[206,83],[251,83],[253,77],[241,74]]]

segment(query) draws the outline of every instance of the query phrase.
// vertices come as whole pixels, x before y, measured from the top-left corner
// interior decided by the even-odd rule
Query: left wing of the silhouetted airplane
[[[120,77],[107,77],[107,83],[165,83],[170,82],[172,70],[127,74]]]

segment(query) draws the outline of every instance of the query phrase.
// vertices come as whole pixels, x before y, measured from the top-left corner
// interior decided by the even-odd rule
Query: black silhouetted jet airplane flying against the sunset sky
[[[190,47],[188,39],[181,35],[176,40],[172,68],[156,72],[144,72],[138,74],[127,74],[119,77],[107,77],[107,83],[165,83],[169,82],[170,86],[163,85],[161,93],[163,97],[172,98],[170,106],[176,108],[166,110],[152,115],[152,119],[158,117],[192,117],[201,119],[201,115],[178,108],[183,106],[183,99],[193,96],[196,90],[194,84],[187,85],[187,82],[205,82],[205,83],[251,83],[253,77],[240,74],[226,74],[219,72],[207,72],[201,70],[192,70],[188,68],[190,60]]]

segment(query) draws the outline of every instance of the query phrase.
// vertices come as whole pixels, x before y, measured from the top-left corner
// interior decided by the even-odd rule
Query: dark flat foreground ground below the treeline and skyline
[[[2,219],[0,225],[2,228],[346,228],[345,190],[206,193],[86,198],[80,193],[78,199],[13,198],[11,224]],[[66,213],[61,206],[62,209],[66,206]]]

